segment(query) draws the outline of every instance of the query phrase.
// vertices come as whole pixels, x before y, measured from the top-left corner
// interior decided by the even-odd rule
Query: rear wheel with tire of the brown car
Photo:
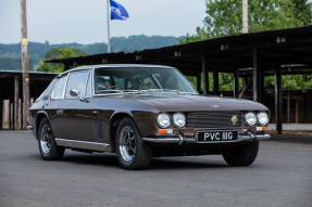
[[[63,157],[65,148],[58,146],[48,118],[42,118],[38,130],[38,145],[45,160],[59,160]]]

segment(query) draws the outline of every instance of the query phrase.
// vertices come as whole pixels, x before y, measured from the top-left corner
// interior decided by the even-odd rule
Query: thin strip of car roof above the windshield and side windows
[[[161,67],[161,68],[175,68],[171,66],[164,66],[164,65],[142,65],[142,64],[100,64],[100,65],[88,65],[88,66],[82,66],[76,67],[73,69],[68,69],[62,74],[60,74],[58,77],[61,77],[67,73],[77,72],[77,70],[84,70],[84,69],[91,69],[91,68],[103,68],[103,67]]]

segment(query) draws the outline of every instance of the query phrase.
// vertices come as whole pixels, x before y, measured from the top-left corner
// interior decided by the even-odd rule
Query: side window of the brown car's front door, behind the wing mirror
[[[89,72],[78,72],[70,74],[66,91],[65,91],[65,99],[77,99],[77,96],[72,96],[70,94],[72,89],[78,90],[79,95],[85,95],[86,82],[88,78]]]

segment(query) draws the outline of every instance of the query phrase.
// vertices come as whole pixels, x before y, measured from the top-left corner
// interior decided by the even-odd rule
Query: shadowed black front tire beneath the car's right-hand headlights
[[[249,166],[251,165],[259,151],[259,141],[248,145],[234,146],[223,154],[224,160],[230,166]]]

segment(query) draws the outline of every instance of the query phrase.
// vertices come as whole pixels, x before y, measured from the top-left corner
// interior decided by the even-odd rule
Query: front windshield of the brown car
[[[113,67],[95,70],[95,94],[148,93],[148,92],[198,92],[175,68]]]

